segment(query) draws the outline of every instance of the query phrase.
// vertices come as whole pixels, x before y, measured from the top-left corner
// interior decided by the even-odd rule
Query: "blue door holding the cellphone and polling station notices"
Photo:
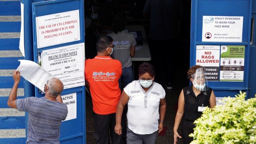
[[[38,53],[43,50],[67,46],[72,44],[84,43],[84,10],[83,0],[51,0],[32,3],[33,17],[33,55],[34,62],[37,62]],[[46,11],[47,10],[47,11]],[[57,44],[53,46],[37,48],[37,35],[35,19],[39,16],[51,15],[56,13],[79,10],[80,17],[80,41]],[[84,62],[84,61],[83,61]],[[39,92],[38,88],[34,88],[36,97],[43,97],[44,94]],[[85,143],[85,93],[84,86],[74,87],[63,90],[61,95],[76,93],[76,118],[62,121],[60,127],[60,143],[61,144],[84,144]]]

